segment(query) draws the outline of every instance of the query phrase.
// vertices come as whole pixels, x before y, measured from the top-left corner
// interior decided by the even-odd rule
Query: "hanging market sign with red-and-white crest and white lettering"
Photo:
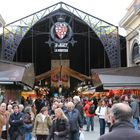
[[[63,18],[58,18],[58,21],[52,25],[47,43],[50,47],[53,46],[54,52],[66,53],[69,52],[69,45],[74,46],[76,43],[71,26]]]

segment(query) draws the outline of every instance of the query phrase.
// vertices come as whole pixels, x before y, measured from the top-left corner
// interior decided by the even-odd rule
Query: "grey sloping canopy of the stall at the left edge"
[[[34,67],[32,63],[17,63],[0,60],[0,85],[34,85]]]

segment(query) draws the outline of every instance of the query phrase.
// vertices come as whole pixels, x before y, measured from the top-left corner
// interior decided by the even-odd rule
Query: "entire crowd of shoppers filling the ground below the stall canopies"
[[[115,106],[118,103],[119,105]],[[123,109],[126,108],[128,112],[120,106]],[[119,116],[115,111],[118,111]],[[128,118],[124,119],[125,115],[128,115]],[[127,127],[129,131],[134,127],[137,131],[139,123],[137,97],[123,95],[119,99],[102,97],[98,100],[81,99],[79,96],[49,100],[38,97],[35,101],[31,98],[25,100],[22,97],[20,103],[17,101],[1,103],[0,138],[5,140],[32,140],[33,138],[36,140],[79,140],[79,132],[84,131],[84,124],[85,131],[94,131],[95,116],[99,119],[101,140],[111,137],[111,134],[114,135],[113,132],[118,131],[120,126]],[[105,134],[106,126],[110,132],[108,135]]]

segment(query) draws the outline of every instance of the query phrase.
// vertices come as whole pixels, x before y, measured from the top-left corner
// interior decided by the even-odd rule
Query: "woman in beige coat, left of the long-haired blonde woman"
[[[48,115],[48,108],[43,107],[40,113],[36,115],[33,135],[36,136],[37,140],[46,140],[49,135],[49,127],[52,124],[52,119]]]

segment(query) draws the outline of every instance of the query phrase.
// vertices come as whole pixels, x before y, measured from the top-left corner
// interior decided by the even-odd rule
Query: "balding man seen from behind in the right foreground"
[[[140,132],[132,123],[132,109],[124,103],[114,104],[111,108],[112,127],[110,133],[102,135],[98,140],[140,140]]]

